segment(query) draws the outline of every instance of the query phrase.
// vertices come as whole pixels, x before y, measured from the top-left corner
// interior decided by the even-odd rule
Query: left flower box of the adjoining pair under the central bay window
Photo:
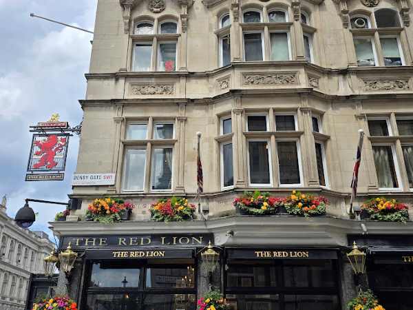
[[[284,205],[284,198],[270,196],[267,192],[244,192],[240,198],[235,198],[233,205],[240,214],[261,216],[277,213]]]

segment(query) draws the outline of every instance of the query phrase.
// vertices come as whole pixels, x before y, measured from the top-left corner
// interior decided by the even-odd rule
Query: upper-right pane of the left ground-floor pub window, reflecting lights
[[[162,287],[194,287],[195,273],[192,266],[147,268],[145,286],[155,289]]]

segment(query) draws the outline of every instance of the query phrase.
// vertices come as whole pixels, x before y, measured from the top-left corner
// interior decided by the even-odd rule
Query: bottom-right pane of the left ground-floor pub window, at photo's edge
[[[144,300],[145,310],[195,310],[194,294],[147,295]]]

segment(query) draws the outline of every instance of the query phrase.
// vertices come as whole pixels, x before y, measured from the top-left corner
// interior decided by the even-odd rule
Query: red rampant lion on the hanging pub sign
[[[57,162],[54,161],[56,153],[61,152],[67,143],[67,138],[58,138],[55,135],[47,136],[43,141],[34,141],[34,145],[40,148],[40,151],[34,153],[36,156],[41,156],[39,163],[33,165],[33,169],[46,167],[52,169],[56,167]]]

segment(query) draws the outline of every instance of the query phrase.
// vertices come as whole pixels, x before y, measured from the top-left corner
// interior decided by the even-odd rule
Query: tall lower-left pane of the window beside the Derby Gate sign
[[[124,187],[141,191],[145,179],[146,149],[127,149],[125,156]]]

